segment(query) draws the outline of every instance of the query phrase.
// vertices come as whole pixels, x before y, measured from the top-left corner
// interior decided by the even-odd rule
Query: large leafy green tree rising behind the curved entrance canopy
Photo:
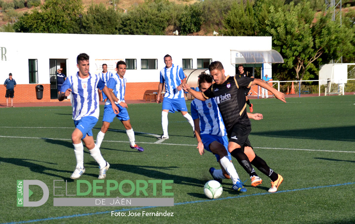
[[[314,73],[310,72],[318,71],[315,64],[321,63],[322,58],[336,58],[354,51],[350,44],[354,33],[331,21],[326,12],[314,21],[315,11],[309,2],[297,5],[291,2],[287,10],[275,10],[272,6],[270,11],[266,24],[268,35],[273,37],[273,48],[283,55],[282,66],[294,69],[298,80],[311,78]]]

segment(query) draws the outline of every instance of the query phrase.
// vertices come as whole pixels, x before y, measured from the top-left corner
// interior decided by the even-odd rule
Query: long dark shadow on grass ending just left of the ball
[[[137,166],[137,165],[129,165],[129,164],[120,164],[120,163],[111,164],[110,163],[110,169],[116,169],[118,171],[125,171],[125,172],[129,172],[129,173],[143,175],[143,176],[146,176],[146,177],[152,178],[152,179],[174,180],[174,184],[179,184],[179,185],[190,185],[190,186],[197,186],[197,187],[203,187],[205,185],[205,181],[203,181],[203,180],[199,180],[199,179],[191,178],[191,177],[183,177],[183,176],[179,176],[179,175],[175,175],[175,174],[167,174],[162,171],[158,171],[158,170],[173,170],[176,168],[178,168],[178,167],[177,166],[169,166],[169,167],[139,166],[139,165]]]

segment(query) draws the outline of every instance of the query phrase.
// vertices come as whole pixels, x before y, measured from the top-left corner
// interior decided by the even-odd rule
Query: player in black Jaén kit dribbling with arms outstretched
[[[249,152],[253,152],[253,150],[248,138],[251,131],[251,123],[246,111],[247,104],[244,88],[250,87],[251,84],[259,85],[268,89],[277,99],[286,103],[284,94],[258,78],[225,76],[223,65],[219,61],[212,62],[209,70],[215,83],[204,93],[192,90],[187,84],[184,84],[183,89],[202,101],[216,97],[219,111],[227,129],[229,138],[228,151],[249,174],[251,186],[256,187],[262,183],[261,178],[256,175],[255,170],[252,168],[252,164],[270,177],[271,188],[268,191],[276,192],[284,180],[283,177],[274,172],[259,156],[253,153],[253,156],[248,158],[245,153],[248,151],[247,154],[251,154]]]

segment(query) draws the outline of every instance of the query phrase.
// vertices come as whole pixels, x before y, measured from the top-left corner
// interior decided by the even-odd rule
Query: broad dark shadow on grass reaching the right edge
[[[327,128],[310,128],[298,130],[280,130],[268,132],[251,132],[251,135],[260,135],[267,137],[284,137],[296,139],[315,139],[330,141],[346,141],[355,142],[354,138],[355,126],[347,127],[327,127]]]

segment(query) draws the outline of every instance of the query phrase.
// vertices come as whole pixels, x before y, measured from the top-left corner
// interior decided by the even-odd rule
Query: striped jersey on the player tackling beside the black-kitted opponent
[[[222,116],[214,98],[206,101],[194,99],[191,102],[192,119],[200,118],[200,134],[227,135]]]

